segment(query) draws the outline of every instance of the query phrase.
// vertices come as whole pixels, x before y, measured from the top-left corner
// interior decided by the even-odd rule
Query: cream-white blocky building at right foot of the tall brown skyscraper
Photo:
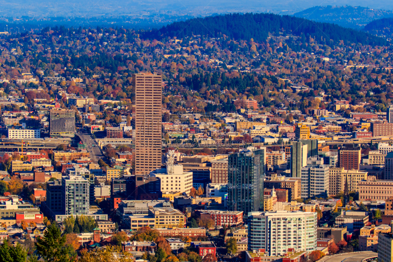
[[[161,179],[162,192],[182,192],[190,194],[193,188],[193,173],[183,172],[183,165],[169,165],[167,168],[157,169],[150,172],[150,176],[156,176]]]

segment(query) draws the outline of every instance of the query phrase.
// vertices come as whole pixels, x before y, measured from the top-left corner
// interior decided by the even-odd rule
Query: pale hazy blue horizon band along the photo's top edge
[[[391,0],[0,0],[3,17],[206,16],[231,12],[294,14],[316,5],[393,10]]]

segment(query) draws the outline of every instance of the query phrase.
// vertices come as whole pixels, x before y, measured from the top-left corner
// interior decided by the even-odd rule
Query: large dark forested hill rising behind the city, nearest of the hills
[[[205,18],[195,18],[175,22],[161,29],[140,32],[143,38],[162,39],[165,37],[182,38],[191,35],[209,37],[228,36],[235,40],[250,40],[262,42],[269,33],[311,36],[320,44],[333,44],[343,40],[345,43],[361,43],[363,45],[386,45],[383,38],[354,29],[343,28],[329,23],[318,23],[293,16],[275,14],[227,14]],[[332,41],[330,41],[330,39]]]

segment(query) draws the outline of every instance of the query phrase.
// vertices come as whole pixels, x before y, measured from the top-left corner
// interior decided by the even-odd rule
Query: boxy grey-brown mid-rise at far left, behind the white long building
[[[70,135],[75,133],[75,111],[54,109],[49,114],[51,136]]]

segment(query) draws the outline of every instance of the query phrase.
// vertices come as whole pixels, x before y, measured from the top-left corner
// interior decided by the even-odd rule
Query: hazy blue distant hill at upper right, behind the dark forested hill
[[[312,21],[333,23],[342,27],[363,29],[373,20],[393,17],[392,10],[371,9],[361,6],[314,6],[293,16]]]

